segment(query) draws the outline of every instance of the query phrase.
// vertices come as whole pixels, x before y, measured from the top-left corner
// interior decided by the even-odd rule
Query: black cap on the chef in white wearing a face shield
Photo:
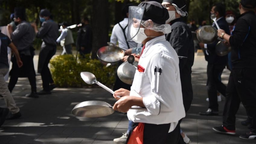
[[[142,20],[152,20],[157,24],[165,24],[169,18],[168,10],[158,2],[142,2],[139,7],[145,7]]]

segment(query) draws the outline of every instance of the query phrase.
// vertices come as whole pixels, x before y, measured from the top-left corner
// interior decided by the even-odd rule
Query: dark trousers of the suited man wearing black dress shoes
[[[222,74],[226,65],[207,65],[207,92],[209,97],[209,108],[214,111],[219,111],[219,104],[217,100],[217,91],[224,97],[226,96],[226,85],[224,85],[219,76]]]

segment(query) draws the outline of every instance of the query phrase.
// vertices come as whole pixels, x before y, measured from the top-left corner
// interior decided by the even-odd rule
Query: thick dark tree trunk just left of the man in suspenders
[[[97,51],[108,41],[108,0],[93,0],[92,11],[92,59],[97,59]]]

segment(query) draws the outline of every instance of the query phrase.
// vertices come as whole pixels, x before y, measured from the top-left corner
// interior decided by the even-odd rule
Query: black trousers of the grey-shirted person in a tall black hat
[[[8,89],[11,92],[16,85],[19,75],[25,75],[27,76],[31,91],[37,92],[37,85],[36,85],[36,72],[34,69],[34,62],[32,56],[25,56],[23,54],[20,55],[21,61],[23,62],[23,66],[21,68],[18,67],[16,57],[13,56],[12,58],[12,68],[11,68],[11,77],[8,84]],[[24,74],[21,74],[24,73]]]

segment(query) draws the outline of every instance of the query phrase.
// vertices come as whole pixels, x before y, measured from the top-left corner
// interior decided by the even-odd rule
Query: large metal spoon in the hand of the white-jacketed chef
[[[96,77],[94,74],[92,74],[91,72],[81,72],[80,73],[82,79],[89,85],[92,84],[97,84],[99,86],[101,86],[102,88],[104,88],[105,90],[107,90],[108,92],[110,92],[111,94],[114,94],[114,91],[112,91],[110,88],[108,88],[107,86],[103,85],[102,83],[98,82],[96,80]],[[118,98],[121,98],[120,96],[117,96]]]

